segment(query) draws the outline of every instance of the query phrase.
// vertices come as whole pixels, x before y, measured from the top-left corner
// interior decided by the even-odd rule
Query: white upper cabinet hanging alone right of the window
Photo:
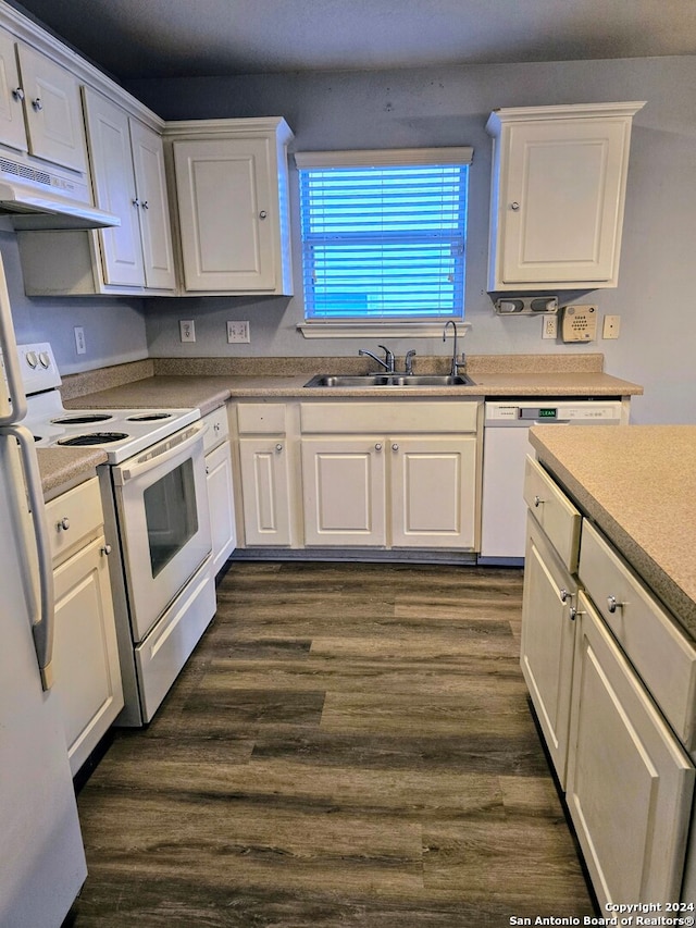
[[[642,102],[495,110],[488,289],[616,287]]]

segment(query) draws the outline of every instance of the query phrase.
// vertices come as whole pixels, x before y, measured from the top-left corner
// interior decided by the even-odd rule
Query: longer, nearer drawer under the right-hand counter
[[[580,579],[681,741],[696,748],[696,648],[585,519]],[[610,602],[616,601],[614,611]]]

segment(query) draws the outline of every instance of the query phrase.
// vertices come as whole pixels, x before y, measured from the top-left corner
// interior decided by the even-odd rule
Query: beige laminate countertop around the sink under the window
[[[70,409],[99,407],[197,406],[204,416],[229,398],[243,397],[395,397],[395,396],[631,396],[643,387],[602,372],[472,374],[474,386],[307,388],[311,374],[171,375],[158,374],[65,400]]]

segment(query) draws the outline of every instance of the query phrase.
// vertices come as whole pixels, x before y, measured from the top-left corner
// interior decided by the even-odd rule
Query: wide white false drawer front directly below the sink
[[[303,433],[475,432],[477,403],[393,399],[385,403],[301,403]]]

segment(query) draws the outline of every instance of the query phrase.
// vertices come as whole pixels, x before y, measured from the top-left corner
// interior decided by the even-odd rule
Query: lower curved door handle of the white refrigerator
[[[16,438],[22,454],[22,466],[32,511],[32,522],[34,524],[39,571],[39,615],[33,617],[32,632],[34,634],[34,646],[36,648],[39,670],[41,671],[41,685],[45,690],[50,690],[53,685],[51,660],[53,657],[55,603],[53,598],[53,565],[45,519],[41,475],[34,446],[34,436],[29,430],[24,425],[8,425],[2,432],[5,435],[12,435]]]

